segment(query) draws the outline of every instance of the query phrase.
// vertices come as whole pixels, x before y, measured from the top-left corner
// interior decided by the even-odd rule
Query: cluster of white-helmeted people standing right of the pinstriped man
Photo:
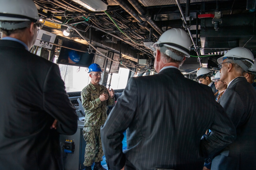
[[[218,90],[214,95],[215,99],[225,109],[230,119],[236,126],[237,139],[228,147],[232,148],[225,153],[226,156],[216,156],[212,160],[212,165],[208,165],[206,169],[245,169],[247,156],[240,155],[249,153],[250,149],[254,150],[255,137],[249,136],[253,131],[254,125],[250,123],[254,119],[254,106],[250,101],[251,95],[255,90],[255,68],[254,57],[250,50],[243,47],[236,47],[229,50],[223,57],[218,59],[219,69],[212,80],[214,80],[215,88],[212,86],[212,71],[208,68],[201,68],[197,71],[196,79],[200,83],[208,85],[213,91]],[[250,85],[251,84],[251,85]],[[222,97],[223,96],[223,97]],[[253,111],[252,111],[252,110]],[[248,122],[248,120],[250,120]],[[242,132],[242,133],[241,133]],[[254,138],[254,139],[252,139]],[[244,144],[248,145],[245,146]],[[243,146],[243,147],[241,147]],[[236,148],[241,148],[237,150]],[[225,155],[224,154],[224,155]],[[254,158],[255,155],[253,154]],[[228,158],[233,158],[229,160]],[[220,166],[216,161],[222,161]],[[237,161],[241,162],[237,162]]]

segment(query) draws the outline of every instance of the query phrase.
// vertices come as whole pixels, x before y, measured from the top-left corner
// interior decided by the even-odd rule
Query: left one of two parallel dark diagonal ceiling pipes
[[[126,12],[128,12],[134,19],[137,20],[138,24],[143,27],[146,28],[148,31],[150,31],[150,26],[148,25],[147,22],[143,21],[139,15],[137,14],[137,11],[126,1],[123,0],[114,0],[114,2],[116,2],[119,6],[121,6]],[[153,35],[158,38],[159,35],[157,32],[153,32]]]

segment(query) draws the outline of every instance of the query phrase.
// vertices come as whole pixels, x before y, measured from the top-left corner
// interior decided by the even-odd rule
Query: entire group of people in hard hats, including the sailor
[[[0,169],[62,170],[59,134],[76,132],[77,114],[58,66],[28,51],[38,29],[34,2],[0,2]],[[89,67],[91,84],[81,92],[86,169],[92,162],[104,169],[102,151],[111,170],[201,170],[204,159],[212,160],[213,170],[255,168],[256,91],[246,79],[254,66],[251,51],[237,47],[218,59],[217,93],[204,69],[198,70],[201,83],[178,70],[191,48],[186,31],[165,31],[154,48],[158,74],[132,77],[108,118],[114,90],[99,84],[97,64]]]

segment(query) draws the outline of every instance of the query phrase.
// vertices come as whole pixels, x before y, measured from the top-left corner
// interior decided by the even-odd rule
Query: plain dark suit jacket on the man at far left
[[[0,60],[0,169],[63,169],[59,134],[76,132],[77,115],[58,66],[9,40]]]

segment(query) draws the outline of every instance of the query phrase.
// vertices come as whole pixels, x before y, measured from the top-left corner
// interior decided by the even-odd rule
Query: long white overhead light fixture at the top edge
[[[108,7],[108,4],[106,4],[106,0],[71,0],[71,1],[76,2],[91,11],[105,11],[107,10],[107,7]]]

